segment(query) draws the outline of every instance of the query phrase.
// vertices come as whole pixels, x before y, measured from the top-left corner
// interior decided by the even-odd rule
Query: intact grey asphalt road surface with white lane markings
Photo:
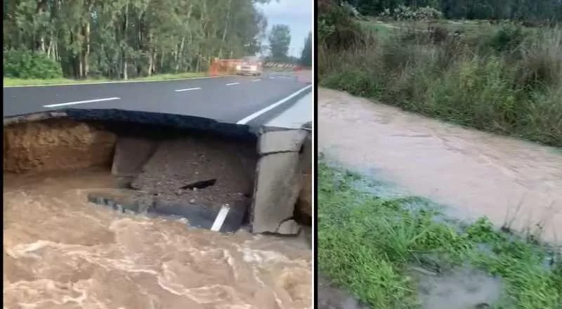
[[[247,124],[267,121],[311,88],[290,74],[4,87],[4,117],[66,108],[119,109]]]

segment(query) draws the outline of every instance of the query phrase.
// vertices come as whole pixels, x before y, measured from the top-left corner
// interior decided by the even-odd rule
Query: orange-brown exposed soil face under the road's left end
[[[97,124],[46,119],[4,126],[4,171],[110,166],[116,136]]]

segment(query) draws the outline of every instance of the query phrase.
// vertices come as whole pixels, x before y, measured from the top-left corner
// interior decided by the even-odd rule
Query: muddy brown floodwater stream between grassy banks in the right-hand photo
[[[318,150],[414,195],[562,242],[562,153],[318,89]],[[455,211],[455,212],[457,212]]]

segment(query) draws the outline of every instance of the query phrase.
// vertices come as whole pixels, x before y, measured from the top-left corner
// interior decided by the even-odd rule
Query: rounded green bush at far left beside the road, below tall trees
[[[44,53],[11,50],[4,51],[4,77],[55,79],[63,77],[63,70]]]

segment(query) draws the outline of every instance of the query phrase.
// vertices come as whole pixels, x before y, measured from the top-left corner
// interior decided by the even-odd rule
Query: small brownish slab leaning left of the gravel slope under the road
[[[111,173],[116,176],[136,176],[152,157],[158,143],[148,138],[119,136],[113,155]]]

